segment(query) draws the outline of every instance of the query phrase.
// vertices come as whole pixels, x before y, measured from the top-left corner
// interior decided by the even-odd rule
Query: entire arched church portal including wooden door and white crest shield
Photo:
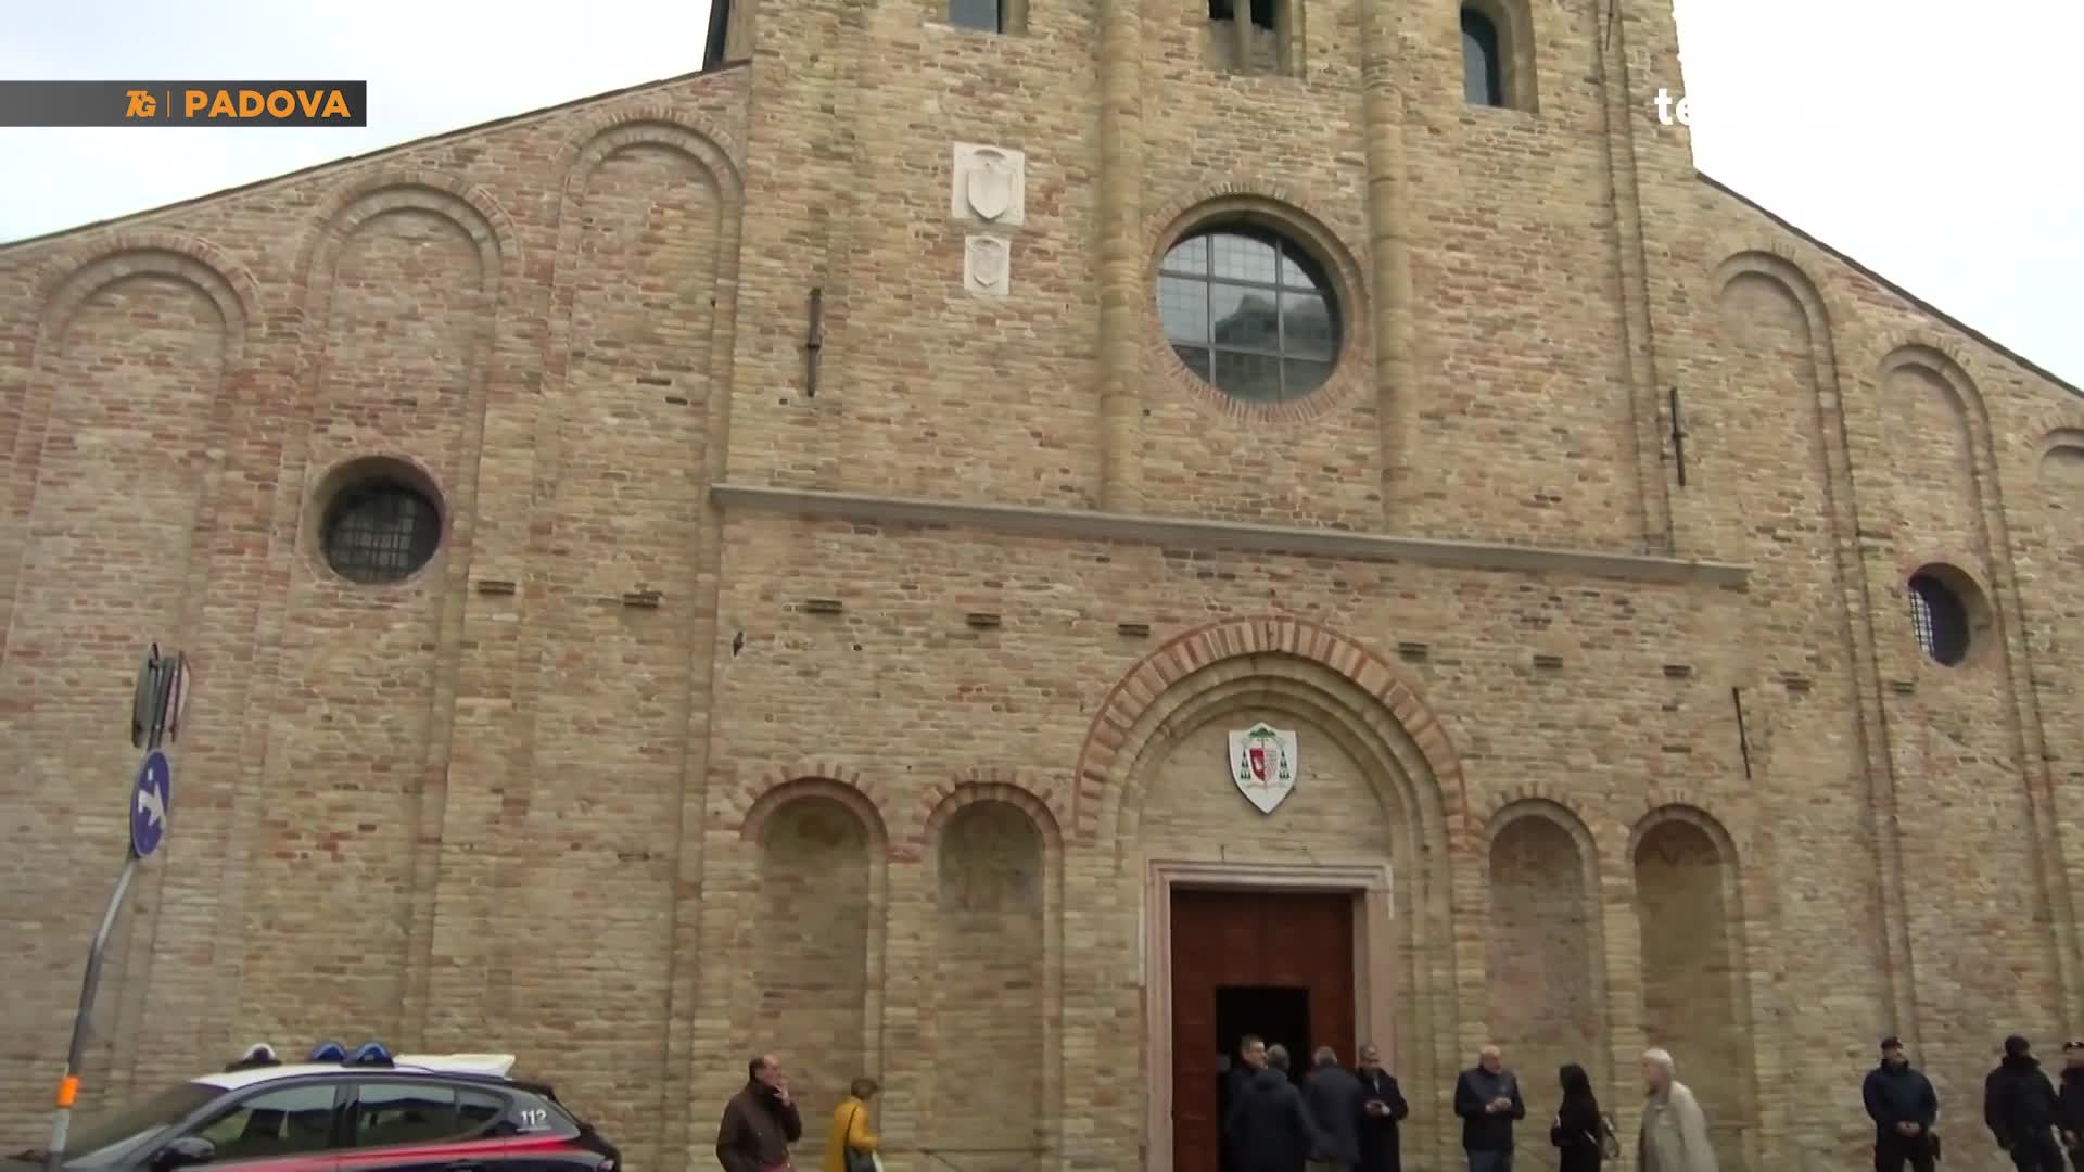
[[[1455,1153],[1432,1089],[1453,1084],[1463,1007],[1482,1001],[1482,941],[1453,930],[1484,882],[1467,807],[1434,711],[1334,630],[1217,621],[1115,684],[1080,751],[1073,826],[1115,893],[1102,907],[1121,909],[1100,938],[1127,943],[1138,974],[1094,1028],[1142,1022],[1144,1109],[1123,1126],[1150,1172],[1221,1172],[1242,1032],[1288,1045],[1298,1072],[1317,1045],[1350,1064],[1375,1043],[1413,1089],[1405,1153]],[[1119,1095],[1096,1095],[1094,1116],[1111,1109]]]

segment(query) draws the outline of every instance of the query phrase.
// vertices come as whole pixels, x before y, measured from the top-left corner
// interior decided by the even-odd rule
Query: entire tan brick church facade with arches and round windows
[[[711,1168],[769,1049],[892,1170],[1215,1172],[1252,1028],[1382,1045],[1407,1168],[1496,1041],[1530,1155],[1665,1045],[1842,1170],[1899,1032],[1994,1168],[2084,1026],[2084,396],[1696,175],[1665,0],[1215,4],[742,0],[0,248],[4,1139],[158,640],[90,1101],[511,1049]]]

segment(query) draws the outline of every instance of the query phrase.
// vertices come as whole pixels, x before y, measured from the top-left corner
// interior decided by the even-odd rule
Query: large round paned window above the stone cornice
[[[1338,361],[1338,298],[1323,267],[1257,225],[1194,231],[1159,265],[1159,317],[1186,369],[1223,394],[1286,402]]]

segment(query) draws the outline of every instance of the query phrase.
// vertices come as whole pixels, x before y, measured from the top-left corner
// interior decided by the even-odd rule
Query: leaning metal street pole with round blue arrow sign
[[[65,1141],[73,1126],[73,1105],[79,1101],[79,1072],[88,1061],[88,1036],[94,1032],[94,995],[102,984],[102,957],[108,951],[108,936],[115,934],[123,899],[138,876],[138,863],[158,849],[167,836],[167,805],[173,799],[173,765],[160,753],[160,744],[171,740],[179,728],[181,709],[188,703],[188,657],[163,659],[158,644],[144,659],[138,672],[138,688],[131,699],[131,744],[146,751],[138,778],[129,788],[131,840],[123,851],[123,872],[117,888],[108,893],[108,907],[102,909],[102,924],[94,930],[88,947],[88,972],[79,982],[79,1014],[73,1018],[73,1045],[65,1053],[65,1078],[58,1080],[56,1114],[50,1120],[50,1147],[44,1151],[46,1172],[58,1172],[65,1164]]]

